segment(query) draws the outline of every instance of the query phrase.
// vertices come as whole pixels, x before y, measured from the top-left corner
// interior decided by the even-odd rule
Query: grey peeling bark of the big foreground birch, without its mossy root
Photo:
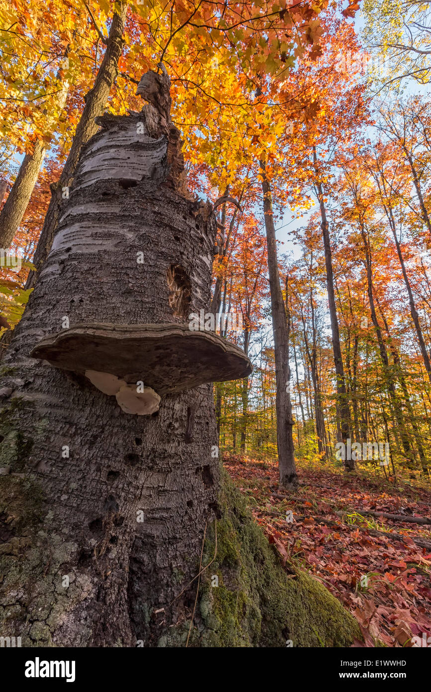
[[[191,309],[208,309],[214,222],[201,203],[163,186],[167,138],[136,134],[139,121],[136,114],[113,122],[86,148],[4,362],[12,392],[0,413],[0,466],[9,471],[0,477],[8,539],[1,603],[10,604],[8,630],[26,644],[134,644],[131,559],[151,565],[140,573],[140,602],[167,605],[195,569],[215,500],[210,385],[167,395],[156,417],[138,417],[81,376],[28,357],[65,317],[71,327],[184,322],[169,307],[172,264],[190,276]],[[145,264],[137,262],[140,252]],[[196,404],[201,434],[189,430],[186,442],[187,410]]]

